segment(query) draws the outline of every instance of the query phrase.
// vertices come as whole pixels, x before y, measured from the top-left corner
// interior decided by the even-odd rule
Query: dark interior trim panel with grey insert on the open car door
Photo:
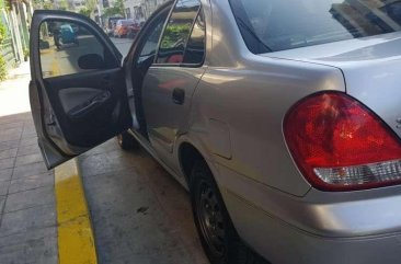
[[[67,142],[77,147],[100,144],[129,123],[121,69],[45,79],[45,89]],[[126,101],[127,102],[127,101]],[[69,129],[64,129],[69,128]],[[128,127],[127,127],[128,128]]]

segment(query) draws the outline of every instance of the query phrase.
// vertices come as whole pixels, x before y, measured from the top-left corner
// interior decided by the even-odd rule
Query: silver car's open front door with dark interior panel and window
[[[32,115],[51,169],[131,127],[122,55],[89,18],[35,11]]]

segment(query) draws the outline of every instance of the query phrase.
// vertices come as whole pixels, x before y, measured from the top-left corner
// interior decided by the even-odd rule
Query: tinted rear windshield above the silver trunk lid
[[[401,30],[397,0],[230,0],[254,54]]]

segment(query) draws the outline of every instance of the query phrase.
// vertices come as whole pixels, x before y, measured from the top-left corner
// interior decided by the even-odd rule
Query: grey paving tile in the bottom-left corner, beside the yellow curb
[[[2,264],[57,264],[57,229],[43,228],[0,238]]]

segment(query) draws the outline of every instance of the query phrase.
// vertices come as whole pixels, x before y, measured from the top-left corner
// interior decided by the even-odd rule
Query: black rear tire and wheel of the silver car
[[[205,161],[195,163],[190,185],[196,229],[210,263],[268,264],[239,238]]]

